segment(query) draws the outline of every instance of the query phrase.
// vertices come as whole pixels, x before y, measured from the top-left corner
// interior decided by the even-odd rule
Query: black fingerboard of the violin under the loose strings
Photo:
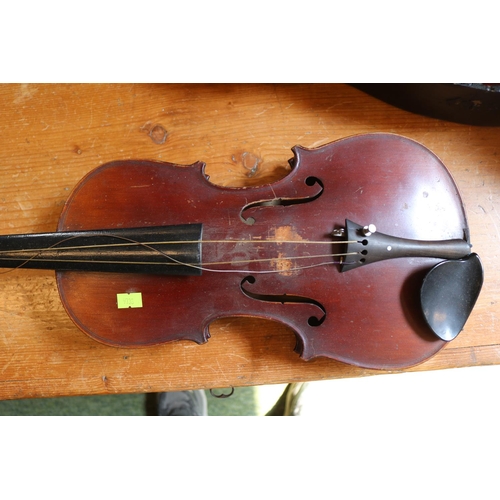
[[[0,236],[0,267],[201,274],[201,224]]]

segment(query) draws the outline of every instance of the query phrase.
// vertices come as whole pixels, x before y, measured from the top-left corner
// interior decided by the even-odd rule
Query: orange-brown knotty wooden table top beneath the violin
[[[207,163],[211,181],[252,186],[287,173],[290,148],[394,132],[422,142],[453,174],[486,280],[464,331],[412,370],[500,363],[500,128],[412,114],[347,85],[2,85],[0,233],[53,231],[76,183],[111,160]],[[305,362],[286,327],[229,318],[204,345],[101,345],[66,315],[54,273],[1,276],[0,398],[156,392],[357,377]]]

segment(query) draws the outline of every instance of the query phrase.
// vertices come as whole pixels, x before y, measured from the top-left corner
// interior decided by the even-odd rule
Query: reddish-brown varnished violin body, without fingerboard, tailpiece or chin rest
[[[212,321],[254,316],[290,327],[304,359],[398,369],[434,355],[445,342],[426,324],[419,293],[436,259],[341,272],[330,243],[346,219],[402,238],[463,239],[466,215],[445,166],[421,144],[392,134],[293,153],[290,173],[260,187],[216,186],[201,162],[116,161],[89,173],[58,231],[201,225],[201,272],[57,271],[69,316],[111,346],[201,344]],[[142,302],[119,308],[119,294],[140,294]]]

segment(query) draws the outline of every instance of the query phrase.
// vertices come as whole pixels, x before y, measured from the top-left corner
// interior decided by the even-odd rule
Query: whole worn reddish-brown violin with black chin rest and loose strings
[[[423,145],[365,134],[292,148],[272,184],[126,160],[75,187],[53,233],[0,237],[0,267],[56,271],[96,341],[198,344],[229,316],[283,323],[305,360],[400,369],[463,329],[483,269],[457,186]]]

